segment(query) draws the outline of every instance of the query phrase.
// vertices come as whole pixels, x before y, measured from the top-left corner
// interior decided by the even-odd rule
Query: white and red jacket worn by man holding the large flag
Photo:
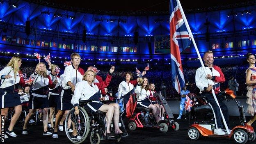
[[[210,74],[213,76],[213,79],[210,80],[210,85],[213,86],[213,89],[215,91],[215,94],[219,93],[220,89],[220,83],[225,82],[224,74],[222,73],[222,70],[219,68],[219,66],[213,65],[212,71],[208,66],[206,66],[206,75]],[[200,67],[196,71],[196,85],[200,89],[200,93],[205,91],[205,89],[208,87],[208,80],[206,79],[206,75],[203,72],[203,67]]]

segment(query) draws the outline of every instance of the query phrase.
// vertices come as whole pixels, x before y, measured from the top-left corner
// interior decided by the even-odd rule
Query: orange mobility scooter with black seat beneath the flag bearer
[[[203,137],[222,137],[222,138],[233,138],[234,141],[238,144],[245,144],[247,142],[253,142],[256,138],[253,127],[245,124],[245,112],[243,105],[240,105],[239,101],[236,100],[236,96],[231,89],[226,89],[225,91],[220,92],[216,97],[223,96],[227,102],[234,100],[238,106],[240,114],[240,126],[235,126],[230,134],[226,135],[215,135],[214,129],[215,124],[213,121],[213,110],[206,101],[205,96],[196,96],[195,94],[190,93],[189,97],[193,101],[192,109],[189,113],[186,114],[186,118],[194,119],[194,124],[192,124],[188,131],[187,135],[191,140],[197,140],[201,136]]]

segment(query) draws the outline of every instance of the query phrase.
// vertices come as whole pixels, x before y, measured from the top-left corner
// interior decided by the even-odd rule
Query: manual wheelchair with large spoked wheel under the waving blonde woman
[[[89,102],[92,102],[94,100],[81,100],[79,103],[79,114],[75,115],[75,109],[72,108],[69,113],[66,116],[65,120],[65,133],[69,139],[70,142],[73,144],[80,144],[87,139],[87,137],[90,140],[91,144],[100,144],[102,140],[113,140],[116,142],[119,142],[121,140],[121,135],[107,135],[107,126],[105,121],[105,113],[101,111],[96,111],[94,113],[91,113],[90,110],[87,110],[87,107],[84,108],[84,105],[86,105]],[[68,128],[68,122],[69,119],[71,119],[72,124],[70,128]],[[119,120],[121,121],[123,125],[123,121],[121,117],[119,117]],[[110,124],[110,130],[111,133],[114,133],[114,128],[112,127],[113,124]],[[124,125],[123,125],[124,126]],[[73,138],[73,132],[70,131],[76,130],[79,138]],[[125,127],[124,127],[125,129]],[[126,130],[124,130],[123,133],[127,133]]]

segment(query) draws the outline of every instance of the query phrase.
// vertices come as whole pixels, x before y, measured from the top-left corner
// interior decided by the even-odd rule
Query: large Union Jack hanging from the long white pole
[[[181,92],[185,86],[183,68],[181,64],[181,52],[190,46],[191,40],[187,27],[184,24],[181,10],[177,0],[170,0],[170,48],[171,48],[171,80],[172,85]]]

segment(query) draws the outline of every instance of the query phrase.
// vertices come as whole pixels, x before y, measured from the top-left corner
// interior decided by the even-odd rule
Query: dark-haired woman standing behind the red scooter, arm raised
[[[145,74],[146,74],[146,71],[143,71],[142,76]],[[137,85],[137,80],[139,80],[139,78],[137,78],[137,80],[132,80],[133,74],[131,72],[126,72],[125,75],[126,75],[126,80],[122,81],[119,84],[118,91],[117,91],[118,103],[120,98],[122,98],[124,109],[126,108],[126,103],[128,102],[130,95],[133,94],[133,88]]]

